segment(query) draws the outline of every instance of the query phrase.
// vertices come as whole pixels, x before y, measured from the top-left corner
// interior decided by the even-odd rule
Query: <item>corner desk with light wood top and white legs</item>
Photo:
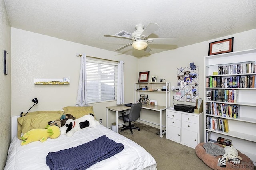
[[[107,117],[107,123],[106,127],[108,127],[108,110],[112,110],[116,112],[116,123],[118,125],[118,111],[124,111],[124,110],[130,110],[131,107],[123,106],[123,105],[116,105],[116,106],[109,106],[106,107],[106,117]],[[148,109],[153,111],[159,111],[160,113],[160,137],[163,136],[166,131],[162,132],[162,111],[166,110],[165,106],[157,106],[157,105],[142,105],[142,109]],[[116,133],[118,133],[118,128],[116,128]]]

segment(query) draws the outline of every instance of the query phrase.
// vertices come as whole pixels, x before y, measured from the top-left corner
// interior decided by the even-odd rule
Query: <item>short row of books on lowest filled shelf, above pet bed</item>
[[[205,128],[215,131],[229,132],[228,119],[205,116]]]

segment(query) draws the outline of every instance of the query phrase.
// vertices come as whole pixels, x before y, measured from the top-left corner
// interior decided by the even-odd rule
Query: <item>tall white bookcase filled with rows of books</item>
[[[256,49],[206,56],[204,66],[205,135],[232,140],[256,164]]]

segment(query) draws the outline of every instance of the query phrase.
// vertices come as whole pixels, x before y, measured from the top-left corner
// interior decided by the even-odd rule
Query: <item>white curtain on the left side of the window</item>
[[[81,68],[76,98],[76,106],[88,106],[86,86],[86,55],[83,54],[81,57]]]

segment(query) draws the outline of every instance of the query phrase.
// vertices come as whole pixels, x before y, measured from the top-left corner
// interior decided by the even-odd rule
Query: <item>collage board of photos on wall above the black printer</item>
[[[177,68],[178,90],[174,91],[174,99],[180,102],[196,103],[199,97],[199,67],[190,63],[190,67]]]

